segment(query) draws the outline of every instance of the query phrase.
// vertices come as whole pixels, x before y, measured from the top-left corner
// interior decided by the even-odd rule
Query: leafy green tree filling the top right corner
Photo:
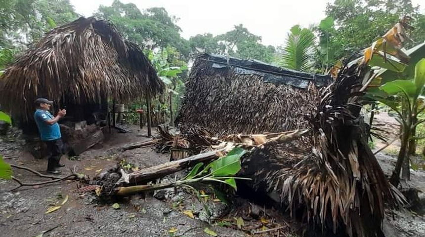
[[[335,20],[331,47],[337,48],[335,59],[340,59],[366,48],[370,42],[382,36],[401,16],[417,19],[413,23],[412,40],[425,40],[424,14],[411,0],[335,0],[328,3],[326,15]],[[414,43],[406,42],[406,47]]]

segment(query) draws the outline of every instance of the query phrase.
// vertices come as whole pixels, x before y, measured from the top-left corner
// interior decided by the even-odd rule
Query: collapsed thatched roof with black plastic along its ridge
[[[313,113],[319,101],[317,88],[330,82],[328,76],[202,54],[175,124],[194,123],[215,135],[303,128],[305,113]]]

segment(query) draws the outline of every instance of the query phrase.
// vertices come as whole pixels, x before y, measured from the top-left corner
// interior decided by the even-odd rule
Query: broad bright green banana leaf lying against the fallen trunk
[[[211,162],[211,174],[219,176],[235,175],[241,169],[241,157],[246,153],[242,148],[234,148],[227,156]]]

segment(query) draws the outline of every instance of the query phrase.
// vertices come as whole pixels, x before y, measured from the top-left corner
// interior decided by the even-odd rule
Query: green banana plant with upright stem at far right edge
[[[399,176],[403,162],[409,167],[409,141],[415,139],[413,132],[416,127],[425,122],[418,120],[417,116],[425,110],[425,58],[421,59],[415,66],[415,77],[410,80],[393,80],[380,86],[380,91],[369,91],[369,96],[390,107],[397,113],[402,129],[401,147],[397,163],[391,176],[391,183],[398,185]],[[408,169],[408,168],[407,168]],[[404,177],[410,179],[410,172],[406,170]]]

